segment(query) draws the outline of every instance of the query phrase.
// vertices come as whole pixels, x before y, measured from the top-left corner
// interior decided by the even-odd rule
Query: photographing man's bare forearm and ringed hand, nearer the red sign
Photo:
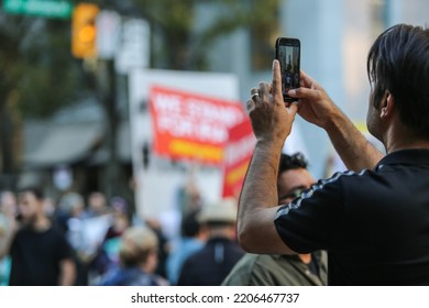
[[[256,146],[239,200],[240,245],[253,253],[294,253],[283,242],[274,224],[278,209],[277,173],[285,139],[297,112],[294,103],[285,108],[279,64],[273,63],[273,85],[261,82],[251,90],[248,111]]]

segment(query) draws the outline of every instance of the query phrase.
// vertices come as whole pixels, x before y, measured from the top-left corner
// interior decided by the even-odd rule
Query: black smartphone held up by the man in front
[[[297,98],[287,95],[290,89],[299,88],[301,43],[298,38],[277,37],[276,59],[280,63],[282,92],[285,102],[292,102]]]

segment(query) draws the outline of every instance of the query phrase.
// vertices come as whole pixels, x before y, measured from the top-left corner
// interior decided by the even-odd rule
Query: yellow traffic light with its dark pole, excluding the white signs
[[[105,166],[99,176],[100,189],[108,198],[122,195],[125,190],[122,180],[121,167],[118,155],[118,129],[119,116],[117,108],[117,72],[114,56],[102,56],[99,51],[97,36],[97,19],[100,13],[99,6],[92,3],[79,3],[73,14],[73,41],[72,53],[81,58],[87,65],[88,74],[94,78],[94,90],[103,110],[103,146],[107,151]],[[106,36],[105,36],[106,38]],[[108,37],[109,38],[109,37]],[[117,47],[117,46],[114,46]]]

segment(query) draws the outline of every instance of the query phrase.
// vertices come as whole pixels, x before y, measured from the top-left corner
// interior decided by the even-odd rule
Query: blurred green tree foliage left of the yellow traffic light
[[[41,118],[73,102],[82,74],[69,41],[68,21],[0,12],[0,103]]]

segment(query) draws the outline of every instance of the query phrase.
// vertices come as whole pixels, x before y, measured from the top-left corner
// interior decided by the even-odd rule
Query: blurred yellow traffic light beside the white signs
[[[77,58],[97,55],[96,19],[100,9],[91,3],[75,7],[72,21],[72,54]]]

